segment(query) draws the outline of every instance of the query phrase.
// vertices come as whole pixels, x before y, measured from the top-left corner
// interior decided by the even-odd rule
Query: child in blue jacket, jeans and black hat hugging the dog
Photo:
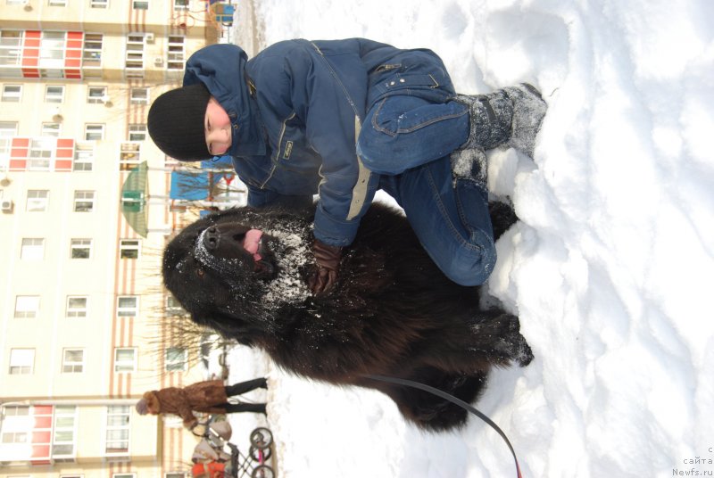
[[[318,194],[316,294],[336,283],[378,189],[446,276],[484,283],[496,260],[484,150],[532,156],[546,109],[527,84],[457,95],[432,51],[364,38],[289,40],[251,60],[236,45],[206,46],[183,85],[152,104],[154,143],[180,161],[230,155],[250,206]]]

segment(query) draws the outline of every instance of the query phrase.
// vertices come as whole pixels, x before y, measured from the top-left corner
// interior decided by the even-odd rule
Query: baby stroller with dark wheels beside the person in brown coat
[[[273,469],[266,465],[273,441],[268,428],[258,427],[251,432],[247,456],[229,441],[232,430],[226,421],[216,421],[214,416],[209,416],[194,429],[194,433],[202,437],[192,457],[194,478],[274,478]],[[226,452],[225,446],[230,453]]]

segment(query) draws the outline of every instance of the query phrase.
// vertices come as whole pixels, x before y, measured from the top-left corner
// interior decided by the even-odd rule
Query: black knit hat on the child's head
[[[203,83],[160,95],[149,109],[149,135],[166,155],[180,161],[211,158],[204,120],[211,94]]]

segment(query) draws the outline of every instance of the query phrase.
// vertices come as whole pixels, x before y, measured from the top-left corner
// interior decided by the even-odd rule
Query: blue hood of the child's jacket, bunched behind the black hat
[[[233,124],[233,141],[227,154],[262,156],[265,138],[258,105],[250,95],[245,64],[248,55],[237,45],[209,45],[191,55],[184,87],[203,83]]]

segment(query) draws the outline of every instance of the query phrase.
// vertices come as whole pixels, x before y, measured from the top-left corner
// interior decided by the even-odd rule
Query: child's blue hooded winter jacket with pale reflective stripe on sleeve
[[[284,41],[250,61],[237,45],[210,45],[188,59],[184,85],[203,82],[228,112],[227,153],[248,187],[248,204],[319,194],[314,235],[344,246],[379,182],[356,153],[361,120],[369,104],[403,89],[382,81],[394,69],[411,75],[410,87],[451,85],[433,52],[363,38]]]

